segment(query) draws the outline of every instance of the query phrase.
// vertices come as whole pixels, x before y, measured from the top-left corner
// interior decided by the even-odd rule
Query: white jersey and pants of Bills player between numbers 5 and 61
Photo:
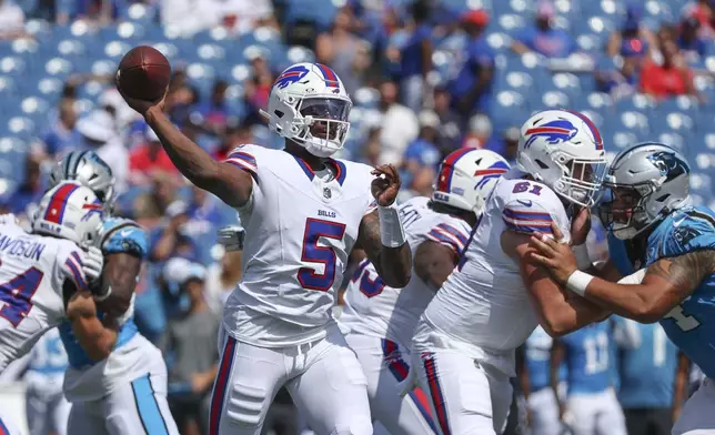
[[[425,241],[441,243],[460,254],[471,227],[461,219],[427,208],[427,198],[414,198],[400,206],[400,219],[414,256]],[[412,271],[404,289],[386,286],[374,265],[364,260],[345,292],[341,325],[367,377],[371,413],[392,435],[436,432],[427,397],[421,388],[400,397],[397,386],[409,373],[410,345],[414,327],[434,296]]]

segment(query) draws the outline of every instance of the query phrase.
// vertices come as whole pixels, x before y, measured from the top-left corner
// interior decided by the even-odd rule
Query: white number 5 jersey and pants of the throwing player
[[[314,173],[283,151],[239,146],[226,162],[253,176],[243,277],[223,310],[210,434],[259,434],[285,385],[318,434],[371,434],[355,354],[332,318],[360,222],[373,211],[372,168],[326,160]]]

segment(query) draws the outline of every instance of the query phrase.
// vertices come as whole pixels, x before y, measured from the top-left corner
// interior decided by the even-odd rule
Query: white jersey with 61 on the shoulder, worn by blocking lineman
[[[489,199],[481,222],[460,264],[425,310],[413,350],[429,352],[441,340],[454,338],[472,357],[514,376],[514,350],[538,324],[520,274],[516,259],[502,250],[507,230],[520,233],[551,232],[555,222],[570,237],[570,220],[561,199],[542,183],[511,170]]]

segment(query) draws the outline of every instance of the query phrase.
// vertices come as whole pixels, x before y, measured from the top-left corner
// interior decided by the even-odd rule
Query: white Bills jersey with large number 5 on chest
[[[258,145],[225,160],[253,176],[243,277],[229,296],[223,323],[236,340],[280,347],[325,336],[362,218],[374,210],[372,168],[328,159],[318,173],[300,158]]]

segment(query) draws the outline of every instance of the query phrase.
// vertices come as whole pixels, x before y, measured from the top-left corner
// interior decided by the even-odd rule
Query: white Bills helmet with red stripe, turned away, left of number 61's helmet
[[[453,151],[440,164],[432,201],[480,215],[496,181],[508,169],[506,160],[492,151],[470,148]]]

